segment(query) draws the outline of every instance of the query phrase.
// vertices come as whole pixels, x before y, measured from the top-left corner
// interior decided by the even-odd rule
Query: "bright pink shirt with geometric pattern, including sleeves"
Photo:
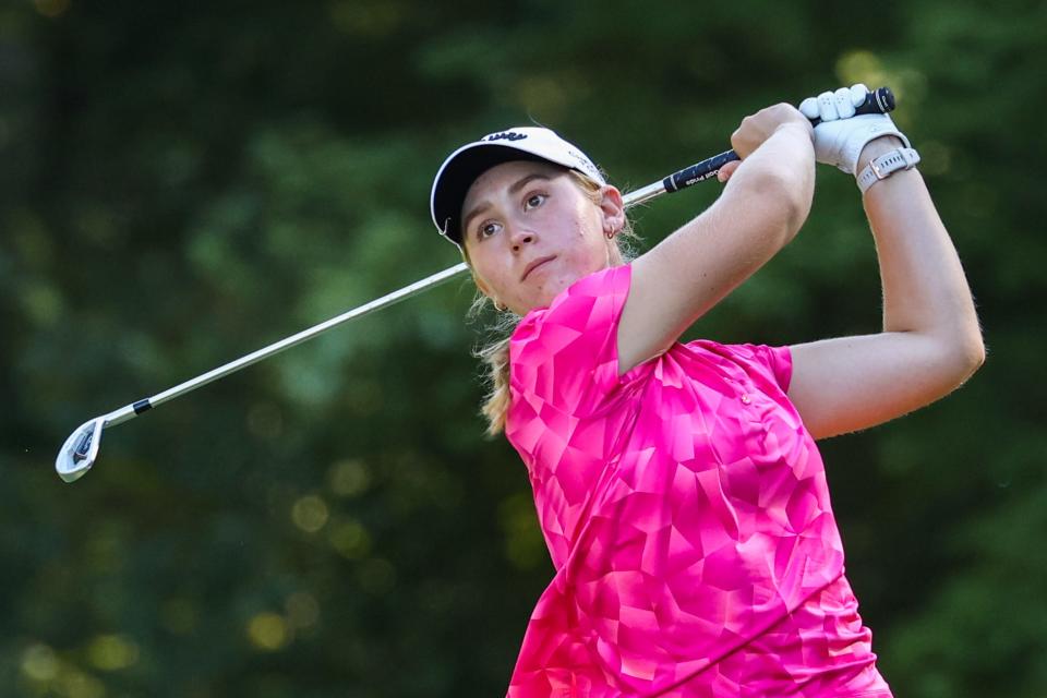
[[[890,698],[787,348],[676,344],[618,376],[631,268],[510,341],[506,435],[556,575],[512,698]]]

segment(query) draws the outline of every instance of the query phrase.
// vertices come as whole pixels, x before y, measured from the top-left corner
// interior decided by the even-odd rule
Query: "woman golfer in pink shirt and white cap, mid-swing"
[[[509,696],[891,696],[815,441],[946,395],[984,348],[918,155],[889,117],[853,116],[865,93],[747,117],[719,200],[631,263],[618,190],[549,130],[489,135],[441,168],[437,227],[520,318],[507,357],[489,352],[485,413],[527,466],[556,569]],[[858,178],[883,330],[678,344],[796,234],[816,161]]]

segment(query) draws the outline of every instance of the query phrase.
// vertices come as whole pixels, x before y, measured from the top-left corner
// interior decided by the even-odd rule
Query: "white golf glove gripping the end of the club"
[[[854,116],[854,108],[861,106],[868,94],[868,87],[857,84],[823,92],[801,103],[799,110],[805,117],[821,119],[815,127],[815,159],[857,176],[858,155],[869,141],[896,135],[910,147],[908,139],[886,113]]]

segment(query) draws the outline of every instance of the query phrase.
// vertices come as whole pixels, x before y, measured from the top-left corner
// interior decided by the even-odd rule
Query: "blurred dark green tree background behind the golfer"
[[[867,15],[867,16],[866,16]],[[896,120],[978,299],[959,393],[822,444],[898,696],[1047,695],[1047,3],[11,0],[0,7],[0,696],[501,695],[552,569],[482,437],[455,282],[107,433],[155,394],[457,262],[431,178],[537,121],[622,186],[838,84]],[[695,328],[879,324],[850,178]],[[638,215],[646,243],[717,196]]]

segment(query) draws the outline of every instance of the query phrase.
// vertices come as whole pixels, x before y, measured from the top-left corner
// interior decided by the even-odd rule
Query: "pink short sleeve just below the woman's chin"
[[[547,309],[527,314],[509,340],[509,389],[540,411],[583,417],[618,384],[617,328],[631,267],[583,277]]]

